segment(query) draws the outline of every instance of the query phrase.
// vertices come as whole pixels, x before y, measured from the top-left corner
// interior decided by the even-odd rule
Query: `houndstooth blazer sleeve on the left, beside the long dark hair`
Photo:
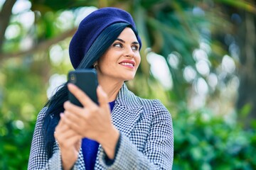
[[[43,118],[47,108],[38,114],[36,128],[33,132],[31,152],[29,154],[28,169],[61,169],[59,149],[48,159],[46,149],[43,147]]]

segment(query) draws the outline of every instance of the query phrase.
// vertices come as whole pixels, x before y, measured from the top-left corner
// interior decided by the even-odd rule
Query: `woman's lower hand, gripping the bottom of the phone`
[[[63,169],[71,169],[78,159],[81,146],[81,135],[65,125],[63,113],[60,114],[60,121],[55,128],[54,137],[60,147]]]

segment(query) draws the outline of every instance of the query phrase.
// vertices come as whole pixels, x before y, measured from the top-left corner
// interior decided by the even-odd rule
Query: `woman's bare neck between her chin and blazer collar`
[[[119,90],[122,88],[124,81],[111,81],[110,79],[99,79],[99,84],[108,96],[109,102],[117,98]]]

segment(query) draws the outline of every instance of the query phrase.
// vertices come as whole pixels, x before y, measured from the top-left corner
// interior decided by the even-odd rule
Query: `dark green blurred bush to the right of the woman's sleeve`
[[[174,169],[255,169],[256,132],[207,110],[183,107],[174,121]],[[233,122],[233,123],[232,123]]]

